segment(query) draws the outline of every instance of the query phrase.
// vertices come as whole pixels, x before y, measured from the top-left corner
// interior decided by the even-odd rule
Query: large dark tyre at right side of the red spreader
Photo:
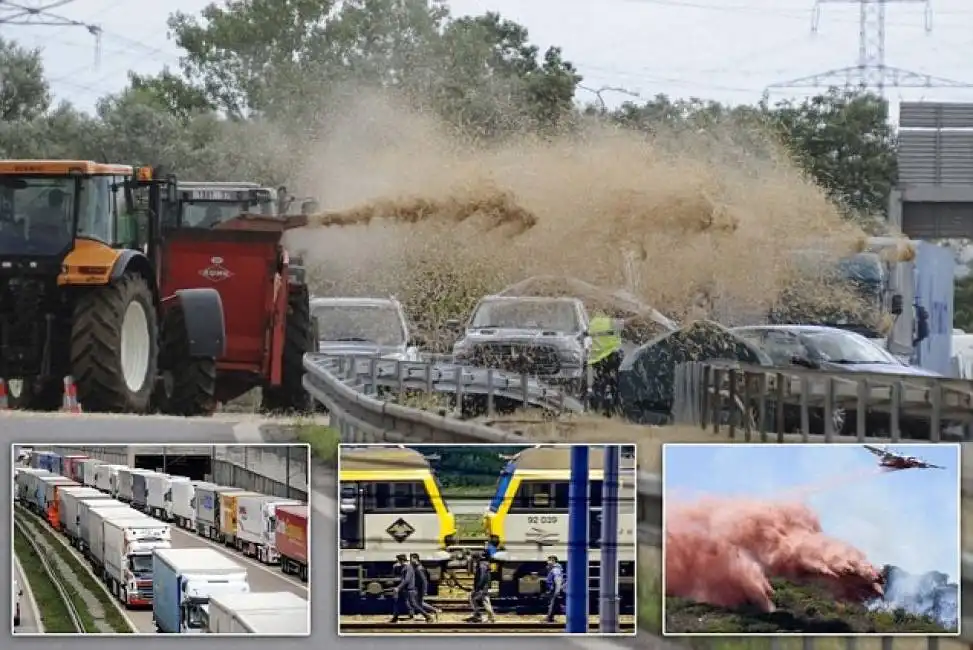
[[[306,413],[311,397],[304,390],[304,355],[314,351],[314,325],[307,287],[291,290],[287,298],[287,324],[280,386],[263,389],[261,408],[270,412]]]

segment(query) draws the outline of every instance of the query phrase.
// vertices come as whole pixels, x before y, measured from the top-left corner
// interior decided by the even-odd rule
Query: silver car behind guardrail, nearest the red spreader
[[[320,352],[419,360],[405,312],[394,298],[312,298],[311,316]]]

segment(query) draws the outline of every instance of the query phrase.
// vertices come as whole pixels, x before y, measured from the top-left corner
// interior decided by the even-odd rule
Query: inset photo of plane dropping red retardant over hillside
[[[959,636],[960,456],[664,445],[663,635]]]

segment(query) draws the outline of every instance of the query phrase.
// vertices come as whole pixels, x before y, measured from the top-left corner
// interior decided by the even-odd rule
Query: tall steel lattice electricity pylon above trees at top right
[[[825,70],[806,77],[771,84],[769,88],[823,88],[829,86],[857,87],[885,96],[885,88],[973,88],[973,84],[952,79],[887,66],[885,64],[886,10],[890,4],[918,4],[924,8],[924,27],[932,31],[932,4],[930,0],[815,0],[811,18],[811,31],[818,31],[821,5],[858,5],[858,64],[844,68]]]

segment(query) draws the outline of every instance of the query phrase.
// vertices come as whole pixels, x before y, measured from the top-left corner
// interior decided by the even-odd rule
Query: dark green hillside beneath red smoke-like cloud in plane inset
[[[811,633],[811,634],[895,634],[903,632],[944,633],[941,623],[930,616],[908,614],[904,609],[870,611],[860,604],[837,602],[817,585],[796,585],[772,580],[777,611],[729,610],[683,598],[666,598],[667,634]]]

